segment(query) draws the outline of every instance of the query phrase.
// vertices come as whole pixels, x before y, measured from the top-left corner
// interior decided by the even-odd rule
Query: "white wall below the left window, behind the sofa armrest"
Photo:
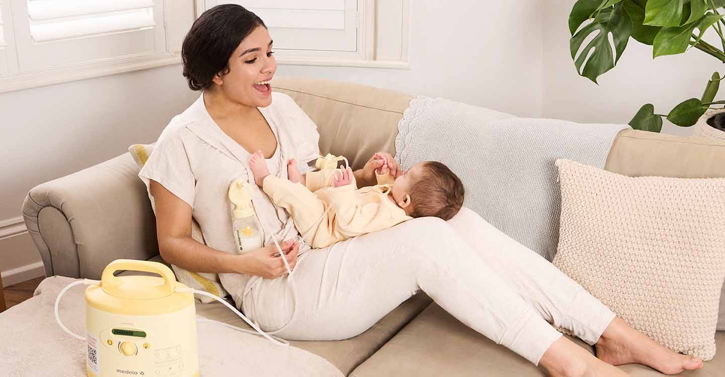
[[[179,64],[0,94],[0,271],[11,275],[3,283],[38,271],[27,232],[2,237],[22,225],[30,189],[152,143],[196,96]]]

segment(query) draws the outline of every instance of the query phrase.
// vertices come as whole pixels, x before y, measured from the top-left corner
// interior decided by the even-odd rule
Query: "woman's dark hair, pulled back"
[[[257,26],[267,27],[241,5],[223,4],[202,13],[181,45],[183,77],[191,90],[207,89],[215,75],[229,73],[229,58]]]

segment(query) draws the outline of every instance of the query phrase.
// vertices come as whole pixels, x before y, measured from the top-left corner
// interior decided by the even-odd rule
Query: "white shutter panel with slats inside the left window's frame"
[[[20,73],[170,55],[164,3],[171,0],[2,1],[12,1]]]

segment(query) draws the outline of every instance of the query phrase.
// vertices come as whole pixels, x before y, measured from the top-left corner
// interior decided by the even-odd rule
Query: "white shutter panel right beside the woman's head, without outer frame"
[[[270,29],[276,50],[358,51],[357,0],[206,0],[239,4],[254,12]]]

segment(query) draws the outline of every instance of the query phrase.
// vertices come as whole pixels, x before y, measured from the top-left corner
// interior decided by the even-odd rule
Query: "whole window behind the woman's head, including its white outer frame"
[[[239,4],[265,21],[281,64],[407,67],[410,0],[202,0]]]

